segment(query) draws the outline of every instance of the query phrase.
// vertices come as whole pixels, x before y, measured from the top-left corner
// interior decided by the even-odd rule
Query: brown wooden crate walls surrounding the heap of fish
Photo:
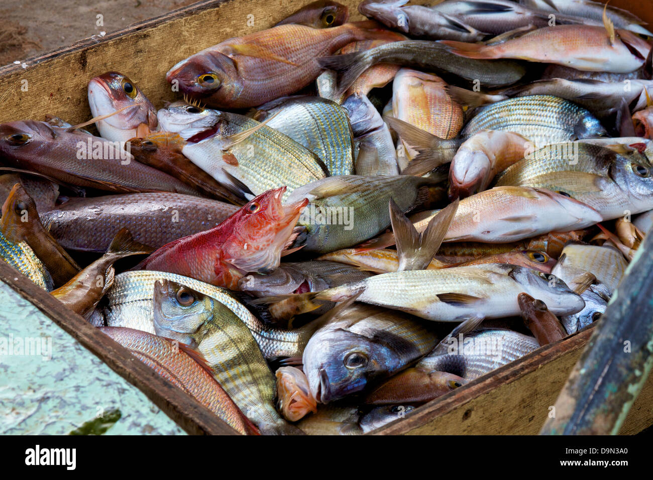
[[[106,71],[133,78],[144,93],[162,106],[176,98],[165,81],[168,68],[221,40],[270,27],[308,1],[204,0],[189,7],[131,25],[105,37],[93,37],[20,65],[0,67],[0,123],[42,120],[54,114],[77,123],[88,120],[88,80]],[[341,0],[352,20],[361,20],[358,0]],[[417,3],[426,3],[426,0]],[[653,10],[644,2],[629,8],[653,24]],[[252,17],[253,16],[253,17]],[[253,26],[249,26],[253,20]],[[27,80],[27,91],[21,88]],[[0,280],[35,304],[52,321],[142,390],[159,408],[191,434],[234,434],[193,398],[154,374],[82,317],[0,261]],[[417,409],[375,434],[537,434],[549,407],[579,359],[591,329],[546,345],[509,365],[480,377]],[[631,408],[621,433],[633,434],[653,424],[653,378]]]

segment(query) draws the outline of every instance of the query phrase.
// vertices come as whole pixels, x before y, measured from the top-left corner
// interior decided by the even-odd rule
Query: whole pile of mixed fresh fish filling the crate
[[[653,222],[653,33],[406,3],[0,125],[3,259],[243,434],[370,432],[588,327]]]

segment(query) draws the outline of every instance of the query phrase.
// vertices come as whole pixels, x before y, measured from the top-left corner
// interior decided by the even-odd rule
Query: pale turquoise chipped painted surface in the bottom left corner
[[[185,434],[143,392],[0,281],[0,434],[75,430]]]

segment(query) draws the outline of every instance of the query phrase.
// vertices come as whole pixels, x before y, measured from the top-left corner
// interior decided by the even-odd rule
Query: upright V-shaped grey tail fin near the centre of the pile
[[[418,233],[404,212],[390,199],[390,223],[397,245],[398,271],[424,270],[431,263],[449,230],[459,202],[456,199],[440,210],[430,219],[426,229]]]

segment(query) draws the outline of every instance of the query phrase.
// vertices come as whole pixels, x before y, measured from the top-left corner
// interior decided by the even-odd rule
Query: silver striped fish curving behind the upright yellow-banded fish
[[[247,325],[266,359],[300,356],[312,333],[309,328],[283,330],[270,327],[252,315],[227,289],[214,287],[194,278],[152,270],[138,270],[116,275],[114,284],[106,293],[106,304],[102,307],[106,325],[136,328],[154,333],[152,297],[154,283],[157,280],[180,283],[226,306]]]

